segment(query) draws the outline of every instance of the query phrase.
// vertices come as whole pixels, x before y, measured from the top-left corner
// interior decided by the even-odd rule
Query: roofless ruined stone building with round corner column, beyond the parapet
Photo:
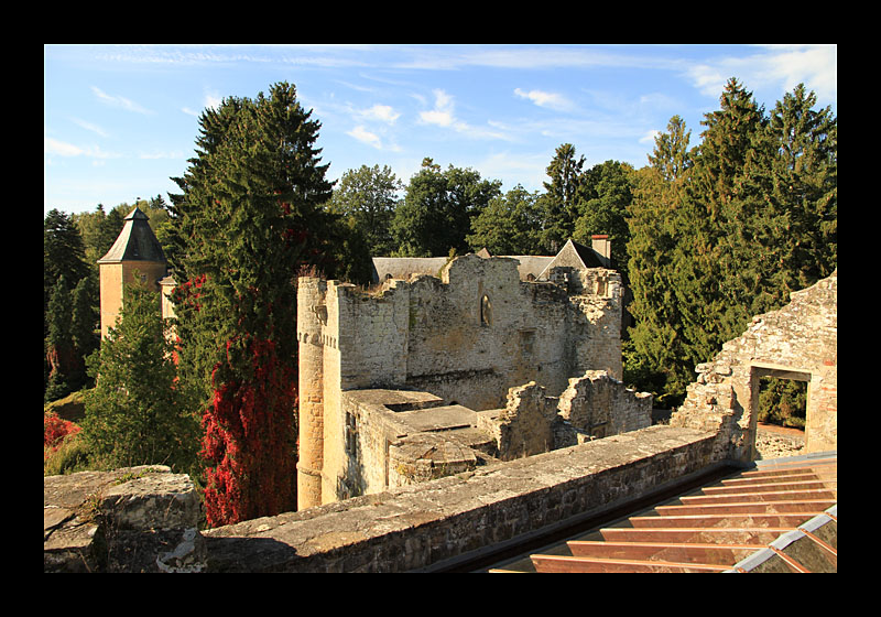
[[[623,288],[597,240],[374,260],[372,293],[301,279],[298,507],[650,425],[651,396],[620,381]]]

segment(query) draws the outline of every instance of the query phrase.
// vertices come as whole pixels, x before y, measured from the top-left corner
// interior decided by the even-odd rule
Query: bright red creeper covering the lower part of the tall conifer
[[[279,360],[271,340],[251,340],[248,350],[252,375],[215,381],[203,416],[200,455],[207,463],[205,507],[211,527],[278,515],[294,505],[295,370]]]

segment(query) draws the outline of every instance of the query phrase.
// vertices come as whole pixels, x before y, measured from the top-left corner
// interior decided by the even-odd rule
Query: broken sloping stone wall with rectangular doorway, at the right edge
[[[793,292],[779,311],[753,317],[742,336],[698,365],[671,425],[716,432],[718,455],[754,459],[759,379],[769,375],[808,382],[805,452],[836,450],[837,349],[838,270]]]

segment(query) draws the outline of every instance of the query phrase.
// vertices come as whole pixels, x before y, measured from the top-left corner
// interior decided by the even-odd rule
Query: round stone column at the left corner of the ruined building
[[[300,342],[300,461],[297,510],[320,506],[324,465],[324,345],[322,325],[327,283],[303,277],[297,286],[296,337]]]

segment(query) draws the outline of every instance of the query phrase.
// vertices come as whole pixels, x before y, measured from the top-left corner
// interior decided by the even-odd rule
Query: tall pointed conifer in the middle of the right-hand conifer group
[[[759,191],[747,191],[744,177],[765,160],[761,140],[766,119],[752,94],[732,78],[720,97],[720,109],[707,113],[701,125],[707,128],[676,213],[679,241],[674,251],[674,289],[684,348],[693,366],[739,336],[752,315],[744,302],[749,272],[736,245],[744,246],[751,234],[748,221]]]

